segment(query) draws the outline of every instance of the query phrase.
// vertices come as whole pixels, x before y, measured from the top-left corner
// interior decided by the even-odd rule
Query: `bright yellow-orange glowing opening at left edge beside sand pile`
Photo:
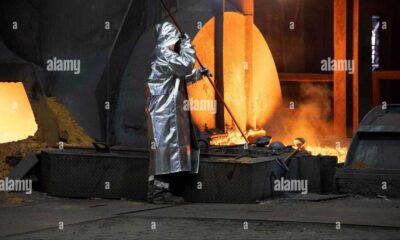
[[[26,139],[37,129],[23,84],[0,83],[0,143]]]

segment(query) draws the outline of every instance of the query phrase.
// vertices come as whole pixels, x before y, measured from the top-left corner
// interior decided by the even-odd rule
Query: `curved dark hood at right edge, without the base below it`
[[[400,105],[373,108],[361,121],[346,156],[347,168],[400,169]]]

